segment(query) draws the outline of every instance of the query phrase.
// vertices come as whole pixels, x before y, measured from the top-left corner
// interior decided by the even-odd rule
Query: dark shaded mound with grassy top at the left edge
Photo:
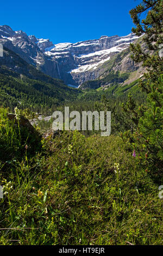
[[[41,138],[38,134],[32,133],[22,127],[17,120],[9,120],[7,113],[9,109],[0,108],[0,161],[16,162],[21,161],[26,155],[26,145],[28,155],[35,155],[41,148]]]

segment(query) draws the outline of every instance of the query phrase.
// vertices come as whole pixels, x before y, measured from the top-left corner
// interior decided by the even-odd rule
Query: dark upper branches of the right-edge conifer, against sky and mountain
[[[147,10],[146,18],[141,21],[139,15]],[[150,93],[151,82],[156,83],[158,77],[163,73],[162,57],[159,54],[163,43],[162,0],[142,0],[141,4],[130,10],[130,15],[136,25],[136,28],[132,29],[133,32],[136,35],[145,33],[142,38],[145,47],[141,48],[140,44],[136,46],[131,44],[131,51],[133,51],[131,58],[135,62],[143,62],[143,66],[147,68],[146,82],[141,82],[140,86],[147,93]]]

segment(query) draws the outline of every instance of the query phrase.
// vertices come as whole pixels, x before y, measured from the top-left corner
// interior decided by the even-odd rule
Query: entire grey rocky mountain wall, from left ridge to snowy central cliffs
[[[137,38],[131,33],[54,45],[49,39],[38,39],[22,31],[12,31],[9,26],[0,26],[0,43],[45,74],[74,87],[98,78],[100,67]],[[130,63],[129,69],[132,69]]]

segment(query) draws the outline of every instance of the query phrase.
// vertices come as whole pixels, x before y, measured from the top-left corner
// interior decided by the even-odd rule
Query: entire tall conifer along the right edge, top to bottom
[[[136,8],[130,10],[136,28],[132,31],[136,35],[142,35],[141,45],[131,44],[135,62],[145,66],[146,72],[140,78],[139,86],[147,93],[147,106],[135,108],[135,102],[129,95],[124,110],[130,113],[131,119],[137,125],[130,134],[130,142],[133,142],[137,159],[141,166],[154,176],[162,173],[162,113],[163,113],[163,1],[142,0]],[[147,14],[146,14],[147,13]],[[145,19],[140,19],[146,14]],[[128,133],[127,133],[128,134]]]

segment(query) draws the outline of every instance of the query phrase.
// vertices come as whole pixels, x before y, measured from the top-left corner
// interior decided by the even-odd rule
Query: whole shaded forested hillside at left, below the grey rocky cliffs
[[[49,77],[4,48],[0,58],[0,105],[51,114],[62,102],[80,93],[63,81]]]

